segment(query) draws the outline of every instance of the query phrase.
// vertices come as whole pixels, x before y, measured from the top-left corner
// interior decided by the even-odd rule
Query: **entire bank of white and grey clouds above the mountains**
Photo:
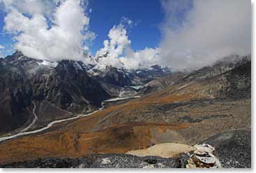
[[[84,60],[88,42],[96,38],[89,31],[88,1],[0,0],[7,15],[6,32],[13,35],[15,49],[33,58],[58,61]],[[127,69],[159,64],[173,69],[209,65],[230,54],[250,53],[250,1],[160,0],[165,20],[160,24],[158,47],[131,49],[128,30],[135,24],[121,17],[110,28],[108,39],[96,51],[98,65]],[[88,9],[88,13],[93,9]]]

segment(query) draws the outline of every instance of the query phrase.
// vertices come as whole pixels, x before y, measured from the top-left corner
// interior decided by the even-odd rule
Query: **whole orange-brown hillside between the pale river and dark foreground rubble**
[[[89,117],[57,124],[46,132],[2,142],[0,163],[38,157],[125,153],[163,142],[194,145],[216,133],[248,128],[250,100],[190,103],[213,98],[217,84],[214,88],[207,83],[171,85]],[[188,104],[168,107],[181,102]],[[167,108],[158,110],[153,106]]]

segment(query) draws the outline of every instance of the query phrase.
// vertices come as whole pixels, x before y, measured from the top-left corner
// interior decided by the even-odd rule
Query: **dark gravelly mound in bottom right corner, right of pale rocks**
[[[215,154],[225,168],[251,167],[250,130],[230,131],[213,135],[204,143],[215,147]]]

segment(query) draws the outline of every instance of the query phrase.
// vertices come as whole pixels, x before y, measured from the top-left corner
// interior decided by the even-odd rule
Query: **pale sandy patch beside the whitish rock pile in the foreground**
[[[190,145],[183,145],[177,143],[163,143],[153,145],[147,149],[130,150],[126,154],[135,156],[160,156],[163,158],[172,158],[176,154],[188,153],[194,151],[196,148]]]

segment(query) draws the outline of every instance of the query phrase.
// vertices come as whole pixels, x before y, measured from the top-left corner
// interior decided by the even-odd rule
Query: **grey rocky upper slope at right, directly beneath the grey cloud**
[[[154,79],[143,85],[139,94],[156,92],[175,84],[203,83],[203,85],[210,86],[209,91],[214,97],[248,99],[251,88],[250,75],[250,56],[228,56],[211,66],[202,67],[190,73],[174,72]]]

